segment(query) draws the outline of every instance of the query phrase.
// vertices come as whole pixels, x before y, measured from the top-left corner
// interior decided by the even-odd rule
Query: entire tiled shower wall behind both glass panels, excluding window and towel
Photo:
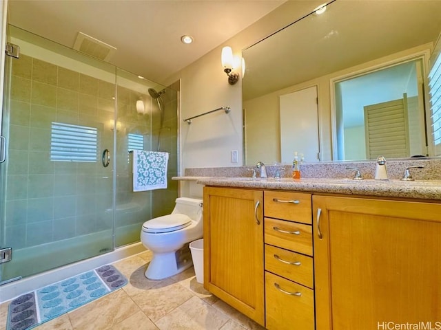
[[[105,148],[118,159],[116,246],[138,241],[141,230],[139,223],[150,219],[152,192],[131,191],[132,170],[127,134],[143,133],[146,142],[154,140],[156,134],[151,133],[154,129],[153,116],[136,113],[136,100],[133,100],[140,95],[118,87],[118,121],[121,121],[121,126],[116,135],[117,148],[114,151],[114,131],[110,124],[114,119],[114,83],[21,54],[19,59],[12,61],[11,86],[6,244],[12,245],[13,242],[14,248],[25,248],[110,230],[113,225],[114,168],[112,162],[107,168],[101,164],[101,153]],[[176,92],[169,95],[171,99],[165,99],[165,108],[170,109],[165,117],[169,129],[163,129],[161,133],[161,151],[171,154],[169,176],[172,177],[177,171],[177,101]],[[52,122],[96,127],[99,132],[96,162],[52,162]],[[176,183],[170,180],[169,186],[170,191],[154,192],[157,202],[153,209],[157,208],[155,212],[159,214],[165,214],[172,208],[177,196]],[[134,204],[139,207],[134,214],[130,214],[125,207],[133,207]],[[123,210],[121,212],[119,205]],[[118,239],[119,228],[130,225],[132,228],[129,232],[125,230]]]

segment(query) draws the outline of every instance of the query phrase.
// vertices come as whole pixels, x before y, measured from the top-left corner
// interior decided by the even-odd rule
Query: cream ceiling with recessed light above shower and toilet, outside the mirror
[[[83,32],[116,47],[113,65],[161,83],[284,2],[9,0],[8,22],[70,48]]]

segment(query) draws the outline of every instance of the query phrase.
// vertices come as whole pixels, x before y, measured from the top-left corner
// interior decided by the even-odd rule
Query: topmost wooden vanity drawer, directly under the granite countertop
[[[265,217],[312,223],[311,194],[302,192],[265,191]]]

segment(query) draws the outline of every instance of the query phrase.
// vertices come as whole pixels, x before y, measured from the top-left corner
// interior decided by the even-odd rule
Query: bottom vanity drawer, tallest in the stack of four
[[[314,330],[314,290],[265,272],[266,328]]]

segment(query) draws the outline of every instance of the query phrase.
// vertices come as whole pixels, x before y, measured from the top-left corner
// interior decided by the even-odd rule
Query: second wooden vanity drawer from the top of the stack
[[[312,256],[312,226],[265,218],[265,243]]]

